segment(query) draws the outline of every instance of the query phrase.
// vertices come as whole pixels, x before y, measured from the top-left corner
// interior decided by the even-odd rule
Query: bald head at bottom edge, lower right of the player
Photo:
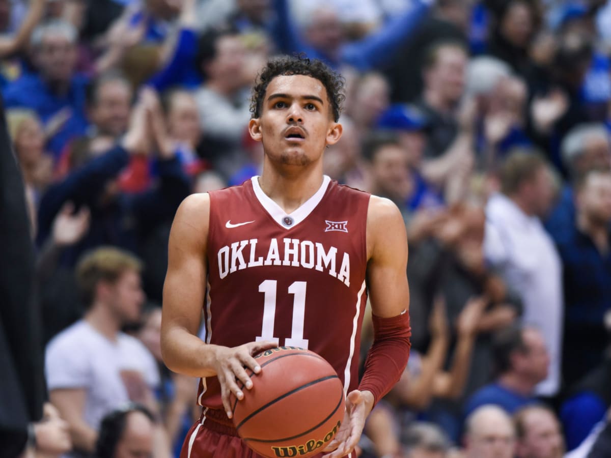
[[[516,439],[509,416],[496,409],[476,415],[466,438],[466,458],[513,458]]]

